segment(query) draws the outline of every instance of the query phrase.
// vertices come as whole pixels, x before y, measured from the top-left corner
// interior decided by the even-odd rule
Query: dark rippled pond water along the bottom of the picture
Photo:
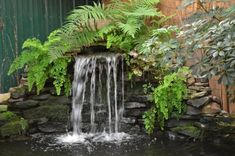
[[[58,136],[0,143],[0,156],[231,156],[234,144],[173,141],[164,137],[130,136],[122,141],[87,140],[59,143]]]

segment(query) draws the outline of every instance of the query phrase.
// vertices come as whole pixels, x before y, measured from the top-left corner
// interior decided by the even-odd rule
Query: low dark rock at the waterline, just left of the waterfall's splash
[[[38,129],[43,133],[62,133],[66,132],[66,123],[64,122],[47,122],[38,125]]]

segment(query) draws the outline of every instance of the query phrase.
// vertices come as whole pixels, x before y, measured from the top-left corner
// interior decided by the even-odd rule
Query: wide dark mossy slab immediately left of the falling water
[[[69,107],[66,105],[42,105],[37,108],[24,111],[26,119],[40,119],[46,117],[50,121],[67,121]]]

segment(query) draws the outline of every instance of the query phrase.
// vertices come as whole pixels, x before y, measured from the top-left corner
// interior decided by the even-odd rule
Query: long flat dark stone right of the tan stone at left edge
[[[27,100],[22,102],[10,103],[9,109],[10,110],[18,110],[18,109],[29,109],[39,105],[38,101],[35,100]]]

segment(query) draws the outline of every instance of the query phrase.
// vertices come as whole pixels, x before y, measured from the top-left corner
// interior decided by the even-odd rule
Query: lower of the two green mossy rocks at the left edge
[[[0,127],[2,137],[24,134],[28,129],[28,123],[25,119],[11,121]]]

